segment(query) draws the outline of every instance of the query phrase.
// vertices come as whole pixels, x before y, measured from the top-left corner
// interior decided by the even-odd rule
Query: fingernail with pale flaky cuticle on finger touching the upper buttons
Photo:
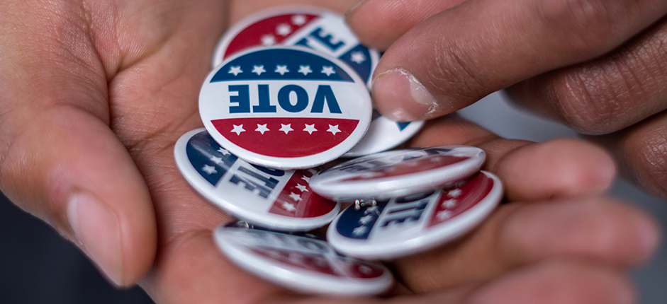
[[[372,92],[376,109],[399,122],[422,119],[438,110],[433,95],[404,69],[392,69],[376,76]]]

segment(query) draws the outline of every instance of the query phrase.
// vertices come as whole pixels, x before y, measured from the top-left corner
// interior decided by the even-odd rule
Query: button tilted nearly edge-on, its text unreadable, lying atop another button
[[[408,148],[348,160],[320,171],[310,187],[337,200],[379,199],[442,187],[476,173],[486,154],[471,146]]]

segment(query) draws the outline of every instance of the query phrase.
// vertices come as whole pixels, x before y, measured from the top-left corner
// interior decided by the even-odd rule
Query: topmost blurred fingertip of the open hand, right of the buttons
[[[518,148],[497,165],[514,200],[599,194],[616,176],[611,156],[576,139],[553,139]]]

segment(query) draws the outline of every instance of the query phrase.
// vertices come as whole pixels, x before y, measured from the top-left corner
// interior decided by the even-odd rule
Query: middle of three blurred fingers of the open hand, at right
[[[524,204],[499,231],[503,256],[513,264],[568,257],[630,267],[658,243],[656,224],[644,212],[600,198]]]

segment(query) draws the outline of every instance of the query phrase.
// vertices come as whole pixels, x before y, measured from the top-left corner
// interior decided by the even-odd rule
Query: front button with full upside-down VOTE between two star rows
[[[199,113],[215,141],[249,163],[313,168],[349,151],[371,121],[359,76],[303,47],[255,48],[211,72]]]

